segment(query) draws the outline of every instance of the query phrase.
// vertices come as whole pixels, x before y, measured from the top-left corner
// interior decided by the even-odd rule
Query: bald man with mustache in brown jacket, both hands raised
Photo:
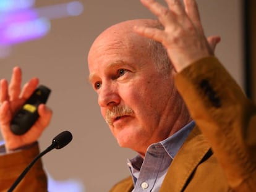
[[[163,27],[155,20],[118,23],[96,38],[88,54],[101,114],[119,145],[139,154],[128,162],[132,176],[111,191],[254,191],[256,108],[213,56],[220,38],[206,40],[195,1],[185,0],[185,9],[179,1],[166,2],[169,9],[142,0]],[[166,48],[171,65],[153,40]],[[11,155],[25,158],[25,152],[38,152],[35,141],[51,111],[41,105],[31,135],[14,140],[10,108],[17,109],[38,83],[31,80],[20,99],[20,78],[14,69],[9,93],[1,81],[0,122],[6,148],[22,147]],[[40,131],[32,132],[36,126]],[[30,178],[43,178],[37,169]],[[45,178],[36,182],[44,185]]]

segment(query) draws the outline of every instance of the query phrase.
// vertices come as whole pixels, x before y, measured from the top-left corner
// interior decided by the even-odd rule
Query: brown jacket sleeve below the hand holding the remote
[[[0,156],[0,191],[7,191],[20,173],[39,154],[38,144]],[[14,191],[47,191],[47,179],[41,161],[36,162]]]

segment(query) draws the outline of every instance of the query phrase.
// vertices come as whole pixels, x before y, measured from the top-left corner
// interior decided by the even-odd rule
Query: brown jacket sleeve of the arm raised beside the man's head
[[[176,87],[234,191],[256,191],[256,107],[216,57],[176,75]]]

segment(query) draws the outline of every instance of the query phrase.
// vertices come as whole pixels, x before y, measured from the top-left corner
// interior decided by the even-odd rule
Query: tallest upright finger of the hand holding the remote
[[[12,70],[12,78],[9,86],[9,97],[11,101],[19,98],[21,81],[21,69],[19,67],[14,67],[14,69]]]

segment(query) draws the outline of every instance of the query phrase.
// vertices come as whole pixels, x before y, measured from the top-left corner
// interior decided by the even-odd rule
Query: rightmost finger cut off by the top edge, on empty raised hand
[[[202,23],[200,20],[200,14],[197,6],[197,2],[195,0],[184,0],[185,10],[187,15],[189,16],[192,23],[194,23],[195,27],[203,32]]]

